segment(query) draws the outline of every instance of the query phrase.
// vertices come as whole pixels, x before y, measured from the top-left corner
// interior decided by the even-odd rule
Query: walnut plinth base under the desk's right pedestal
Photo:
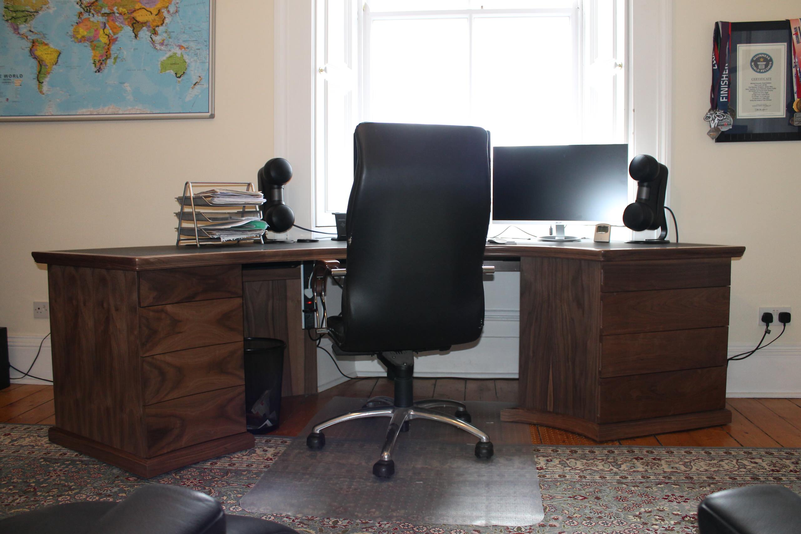
[[[506,408],[501,410],[501,421],[544,425],[585,435],[595,441],[610,441],[611,439],[634,438],[640,435],[726,425],[731,423],[731,411],[726,409],[697,411],[691,414],[668,415],[620,423],[593,423],[572,415],[555,414],[550,411]]]

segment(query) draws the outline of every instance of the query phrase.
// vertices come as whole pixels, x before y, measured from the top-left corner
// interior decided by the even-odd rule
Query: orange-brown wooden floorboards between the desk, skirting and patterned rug
[[[465,380],[463,378],[415,378],[415,398],[504,401],[517,398],[517,380]],[[335,396],[392,396],[386,378],[350,380],[319,394],[284,397],[281,435],[298,435],[306,423]],[[801,398],[729,398],[732,422],[723,427],[648,435],[605,442],[622,445],[671,447],[801,447]],[[12,384],[0,390],[0,422],[55,423],[52,386]],[[538,426],[533,439],[547,445],[592,445],[582,435]]]

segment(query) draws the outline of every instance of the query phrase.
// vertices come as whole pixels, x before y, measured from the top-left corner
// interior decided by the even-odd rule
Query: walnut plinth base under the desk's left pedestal
[[[242,432],[240,434],[228,435],[224,438],[197,443],[189,447],[183,447],[183,449],[167,452],[152,458],[141,458],[137,455],[132,455],[130,452],[121,451],[115,447],[109,447],[94,439],[84,438],[83,436],[73,434],[70,431],[64,431],[58,427],[50,427],[47,436],[51,442],[57,445],[72,449],[73,451],[83,452],[85,455],[89,455],[105,463],[111,463],[111,465],[120,467],[125,471],[129,471],[145,479],[149,479],[155,475],[161,475],[173,469],[178,469],[179,467],[191,465],[192,463],[227,455],[231,452],[243,451],[244,449],[252,448],[256,443],[251,433]]]

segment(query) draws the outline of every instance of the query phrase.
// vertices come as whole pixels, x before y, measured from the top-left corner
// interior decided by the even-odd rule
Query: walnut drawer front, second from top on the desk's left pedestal
[[[242,341],[242,298],[139,308],[140,354]]]

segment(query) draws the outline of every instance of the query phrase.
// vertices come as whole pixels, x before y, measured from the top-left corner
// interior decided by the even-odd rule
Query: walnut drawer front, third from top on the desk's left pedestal
[[[142,358],[144,403],[243,386],[243,342],[178,350]]]

